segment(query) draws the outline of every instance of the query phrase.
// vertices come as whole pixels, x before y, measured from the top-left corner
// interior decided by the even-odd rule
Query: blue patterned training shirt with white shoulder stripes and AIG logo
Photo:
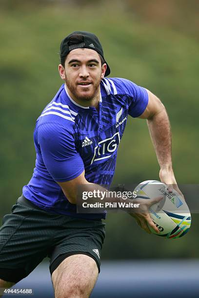
[[[46,106],[36,122],[34,143],[36,167],[23,195],[49,212],[77,218],[105,218],[80,214],[57,182],[78,177],[85,169],[88,182],[111,185],[118,145],[128,114],[141,115],[148,104],[148,93],[123,78],[104,78],[100,83],[99,111],[77,104],[65,84]]]

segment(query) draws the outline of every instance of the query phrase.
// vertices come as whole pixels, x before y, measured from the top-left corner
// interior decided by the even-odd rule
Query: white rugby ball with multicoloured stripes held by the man
[[[149,208],[150,216],[159,229],[158,234],[149,227],[152,233],[160,237],[176,239],[189,231],[191,214],[184,198],[175,189],[169,192],[166,184],[147,180],[141,182],[134,191],[137,193],[137,198],[141,199],[163,196],[158,204]]]

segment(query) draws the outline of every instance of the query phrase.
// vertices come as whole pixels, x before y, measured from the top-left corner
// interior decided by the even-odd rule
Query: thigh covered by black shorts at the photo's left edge
[[[42,231],[40,210],[17,203],[0,227],[0,279],[18,282],[47,256],[51,238]]]

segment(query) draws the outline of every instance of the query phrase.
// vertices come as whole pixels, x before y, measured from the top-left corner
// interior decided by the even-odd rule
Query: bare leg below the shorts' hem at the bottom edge
[[[52,274],[55,298],[88,298],[97,278],[96,261],[81,254],[70,256]]]

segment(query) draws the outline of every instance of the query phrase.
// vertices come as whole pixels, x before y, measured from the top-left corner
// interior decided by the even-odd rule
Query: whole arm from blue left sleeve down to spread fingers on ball
[[[104,187],[86,180],[84,164],[75,146],[72,127],[66,129],[58,123],[56,125],[54,123],[44,123],[38,128],[37,139],[45,167],[52,178],[60,185],[65,197],[71,204],[77,204],[77,198],[78,195],[81,195],[80,190],[82,187],[84,191],[99,190],[105,192],[107,196],[103,197],[103,203],[120,203],[122,201],[120,197],[109,196]],[[97,198],[93,197],[91,203],[101,202],[100,199],[99,196]],[[158,232],[159,230],[148,213],[148,208],[150,205],[157,203],[157,198],[148,200],[134,199],[134,202],[134,204],[140,204],[140,208],[125,210],[129,213],[139,213],[140,222],[147,221],[148,225]],[[132,203],[132,200],[129,200],[129,203]],[[141,227],[143,228],[143,225]],[[144,229],[150,232],[147,227]]]

